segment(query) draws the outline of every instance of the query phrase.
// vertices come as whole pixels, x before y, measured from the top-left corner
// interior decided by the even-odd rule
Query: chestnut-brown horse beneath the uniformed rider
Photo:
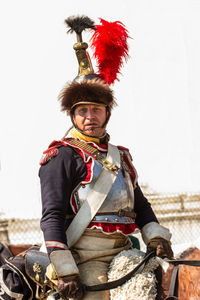
[[[5,262],[5,258],[16,256],[20,253],[26,253],[26,251],[32,247],[32,245],[4,245],[0,243],[0,265]],[[198,260],[200,261],[200,250],[196,247],[188,248],[183,251],[174,261],[189,261]],[[200,263],[199,263],[200,264]],[[200,299],[200,284],[199,275],[200,268],[191,265],[179,265],[179,276],[177,278],[178,286],[177,298],[168,297],[170,290],[170,283],[172,279],[172,273],[175,266],[172,261],[169,261],[169,267],[166,271],[159,267],[156,271],[157,278],[157,296],[155,300],[165,299],[180,299],[180,300],[199,300]],[[167,298],[168,297],[168,298]],[[54,298],[55,299],[55,298]]]

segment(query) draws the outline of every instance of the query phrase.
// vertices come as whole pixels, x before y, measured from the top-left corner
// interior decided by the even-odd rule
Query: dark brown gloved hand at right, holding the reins
[[[151,251],[155,251],[155,254],[161,258],[167,257],[171,259],[174,256],[170,242],[161,237],[155,237],[149,241],[147,244],[147,253]]]

